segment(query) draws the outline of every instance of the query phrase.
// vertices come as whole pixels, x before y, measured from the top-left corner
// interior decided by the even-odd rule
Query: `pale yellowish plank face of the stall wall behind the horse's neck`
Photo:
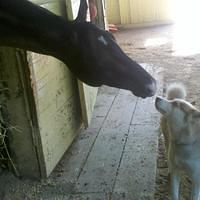
[[[40,1],[42,7],[60,14],[60,1]],[[76,78],[59,60],[29,53],[37,117],[43,176],[48,176],[72,143],[81,126]]]

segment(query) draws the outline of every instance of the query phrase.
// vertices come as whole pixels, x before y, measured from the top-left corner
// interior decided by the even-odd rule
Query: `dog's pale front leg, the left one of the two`
[[[171,178],[171,199],[179,200],[180,174],[177,171],[171,171],[170,178]]]

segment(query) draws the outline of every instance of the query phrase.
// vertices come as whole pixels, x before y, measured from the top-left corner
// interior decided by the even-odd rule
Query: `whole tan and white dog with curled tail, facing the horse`
[[[172,200],[180,199],[182,172],[192,181],[192,200],[200,200],[200,111],[185,100],[181,84],[167,88],[167,98],[157,97],[155,106],[162,114],[161,129],[165,138],[171,177]]]

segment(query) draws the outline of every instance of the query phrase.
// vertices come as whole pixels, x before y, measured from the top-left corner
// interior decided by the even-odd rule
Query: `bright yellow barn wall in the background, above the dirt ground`
[[[172,20],[172,0],[107,0],[109,23],[142,24]]]

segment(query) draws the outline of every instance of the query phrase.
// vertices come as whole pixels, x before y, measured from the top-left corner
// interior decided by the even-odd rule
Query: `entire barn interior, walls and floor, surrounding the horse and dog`
[[[32,2],[71,19],[80,3]],[[187,100],[200,108],[200,3],[95,3],[93,23],[110,28],[124,52],[156,78],[156,95],[182,82]],[[61,61],[20,49],[1,47],[0,68],[0,199],[169,199],[155,96],[89,87]],[[190,188],[185,177],[183,199]]]

